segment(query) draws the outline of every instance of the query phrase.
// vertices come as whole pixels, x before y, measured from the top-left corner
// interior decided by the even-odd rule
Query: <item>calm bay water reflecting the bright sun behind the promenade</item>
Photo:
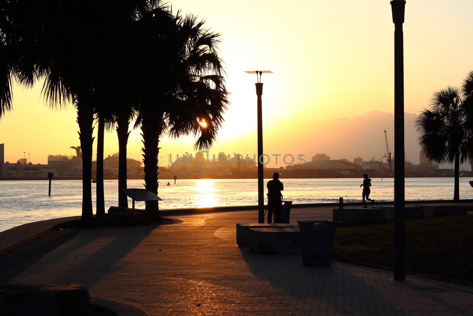
[[[269,179],[265,180],[268,181]],[[473,199],[473,188],[460,179],[460,199]],[[361,201],[359,185],[362,179],[283,179],[284,199],[295,203]],[[199,208],[228,205],[256,205],[257,180],[167,180],[160,182],[160,208]],[[372,179],[371,198],[392,201],[394,179]],[[406,200],[453,199],[453,178],[408,178],[405,180]],[[105,181],[105,210],[117,205],[118,181]],[[128,181],[129,188],[143,188],[142,180]],[[14,226],[54,217],[76,216],[81,213],[82,185],[80,180],[52,182],[48,196],[48,181],[0,181],[0,231]],[[95,184],[92,184],[95,208]],[[131,200],[130,200],[131,207]],[[136,202],[144,208],[143,202]]]

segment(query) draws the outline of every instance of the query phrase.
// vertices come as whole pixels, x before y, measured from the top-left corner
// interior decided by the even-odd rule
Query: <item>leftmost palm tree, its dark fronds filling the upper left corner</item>
[[[53,108],[71,102],[77,109],[82,147],[82,222],[93,219],[91,196],[92,131],[97,78],[122,42],[132,21],[158,0],[3,1],[0,4],[0,106],[11,107],[10,74],[22,85],[44,79],[43,93]],[[14,43],[16,42],[16,43]],[[16,44],[16,45],[14,45]],[[14,54],[13,54],[14,53]],[[5,62],[6,61],[6,62]],[[108,78],[113,85],[113,77]]]

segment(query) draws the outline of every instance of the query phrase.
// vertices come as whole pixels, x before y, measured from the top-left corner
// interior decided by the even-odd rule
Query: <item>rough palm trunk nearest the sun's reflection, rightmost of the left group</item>
[[[159,134],[160,130],[157,128],[157,120],[152,120],[152,116],[143,117],[141,122],[141,136],[143,137],[143,163],[144,163],[144,181],[145,188],[158,194],[158,155],[159,155]],[[159,216],[158,201],[146,202],[146,212],[153,220],[161,220]]]

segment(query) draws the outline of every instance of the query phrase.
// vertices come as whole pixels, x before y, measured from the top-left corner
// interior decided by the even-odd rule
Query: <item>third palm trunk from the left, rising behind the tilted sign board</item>
[[[118,207],[128,208],[128,198],[122,189],[126,189],[126,144],[128,143],[128,126],[130,116],[123,115],[117,120],[118,135]]]

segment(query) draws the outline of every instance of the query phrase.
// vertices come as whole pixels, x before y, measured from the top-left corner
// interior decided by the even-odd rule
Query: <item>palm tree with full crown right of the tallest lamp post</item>
[[[419,143],[426,157],[435,163],[455,163],[453,199],[460,199],[460,163],[468,157],[466,103],[460,90],[453,87],[434,92],[430,109],[416,120]]]

